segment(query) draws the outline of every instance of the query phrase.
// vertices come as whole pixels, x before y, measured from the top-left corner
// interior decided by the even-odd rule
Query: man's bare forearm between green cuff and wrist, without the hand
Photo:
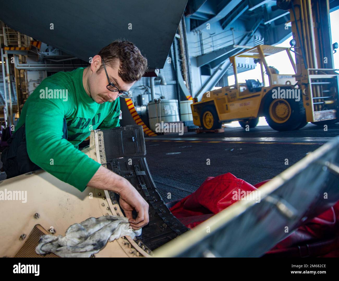
[[[126,185],[125,181],[127,180],[123,177],[101,166],[87,183],[87,186],[103,190],[112,190],[120,194],[121,188]]]

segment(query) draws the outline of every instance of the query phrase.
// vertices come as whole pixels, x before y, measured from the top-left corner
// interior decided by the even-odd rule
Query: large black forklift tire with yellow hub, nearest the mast
[[[276,131],[289,131],[305,126],[305,108],[302,100],[274,99],[267,93],[264,112],[268,125]]]

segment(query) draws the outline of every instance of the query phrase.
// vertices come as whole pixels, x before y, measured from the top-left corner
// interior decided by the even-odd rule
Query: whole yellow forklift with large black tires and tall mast
[[[333,64],[338,44],[331,44],[328,0],[278,0],[277,6],[290,10],[291,47],[258,45],[230,57],[235,85],[207,91],[200,102],[194,99],[191,108],[196,126],[215,130],[223,123],[239,121],[243,128],[254,128],[259,117],[265,116],[271,128],[286,131],[300,129],[307,122],[328,125],[339,121],[339,74]],[[282,51],[287,52],[295,74],[280,74],[267,65],[267,56]],[[260,64],[262,83],[254,79],[238,83],[237,58],[241,57]]]

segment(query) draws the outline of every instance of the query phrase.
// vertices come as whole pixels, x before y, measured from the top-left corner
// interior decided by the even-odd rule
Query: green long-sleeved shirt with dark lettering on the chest
[[[93,101],[82,84],[83,70],[44,79],[28,97],[15,127],[25,124],[27,153],[34,164],[80,191],[101,165],[78,150],[78,145],[91,130],[120,126],[119,98],[103,104]],[[64,117],[68,140],[62,138]]]

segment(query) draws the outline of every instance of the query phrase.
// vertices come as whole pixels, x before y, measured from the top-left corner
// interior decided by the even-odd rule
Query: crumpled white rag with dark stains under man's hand
[[[43,235],[35,248],[37,254],[54,253],[63,258],[88,258],[98,253],[108,242],[123,236],[141,235],[141,229],[129,228],[128,218],[102,216],[88,218],[69,226],[65,236]]]

